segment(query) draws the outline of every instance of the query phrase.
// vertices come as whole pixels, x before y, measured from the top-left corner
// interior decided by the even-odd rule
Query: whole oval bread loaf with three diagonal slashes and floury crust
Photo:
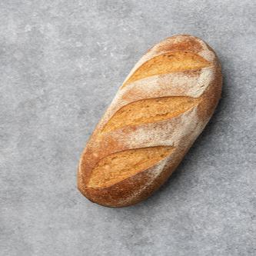
[[[205,42],[175,35],[158,43],[132,68],[91,135],[78,189],[108,207],[148,198],[175,171],[220,97],[221,66]]]

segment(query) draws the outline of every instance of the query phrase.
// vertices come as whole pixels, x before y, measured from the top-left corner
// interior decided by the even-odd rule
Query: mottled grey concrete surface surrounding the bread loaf
[[[255,255],[256,5],[0,1],[0,254]],[[218,53],[216,114],[175,175],[130,208],[76,189],[85,142],[138,58],[173,34]]]

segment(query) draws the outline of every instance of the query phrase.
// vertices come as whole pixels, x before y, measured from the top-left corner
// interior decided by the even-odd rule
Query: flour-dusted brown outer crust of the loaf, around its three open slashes
[[[155,64],[153,64],[155,65],[154,71],[148,71],[151,65],[144,65],[145,62],[151,63],[151,59],[166,52],[182,51],[201,56],[207,65],[196,65],[195,70],[191,70],[191,66],[187,70],[180,66],[177,69],[176,65],[176,70],[174,68],[172,73],[170,73],[170,67],[173,66],[168,64],[169,68],[165,68],[163,62],[159,65],[161,68],[159,72]],[[142,65],[147,67],[143,70],[143,74],[138,73]],[[132,78],[136,71],[136,78]],[[128,206],[148,198],[175,171],[194,140],[207,125],[218,104],[221,97],[221,67],[213,50],[201,39],[191,35],[175,35],[151,48],[135,65],[135,68],[132,68],[123,85],[125,87],[118,90],[118,94],[91,135],[78,167],[78,188],[81,193],[89,200],[108,207]],[[124,125],[115,125],[115,122],[121,123],[120,118],[130,116],[127,113],[124,114],[124,111],[120,112],[120,109],[127,110],[125,106],[135,101],[145,102],[146,98],[174,96],[193,97],[197,101],[194,101],[196,104],[191,105],[190,108],[177,111],[178,115],[167,115],[168,118],[151,117],[151,111],[145,111],[149,120],[153,120],[152,122],[147,122],[145,118],[142,118],[143,121],[135,119],[135,121],[126,121]],[[135,107],[127,111],[133,110],[135,114],[138,114],[135,108],[140,109],[141,106],[132,106]],[[154,109],[154,111],[159,111],[161,108],[156,106]],[[110,120],[113,120],[111,119],[113,116],[115,122],[111,124]],[[105,127],[110,128],[104,131]],[[123,180],[120,180],[118,176],[116,182],[105,183],[102,187],[100,185],[90,186],[91,177],[94,177],[92,180],[95,181],[93,175],[100,174],[100,171],[95,169],[98,168],[98,163],[108,159],[109,155],[118,156],[118,152],[121,151],[150,147],[172,147],[173,150],[167,157],[148,165],[144,170],[124,176]],[[128,161],[128,164],[130,162]]]

